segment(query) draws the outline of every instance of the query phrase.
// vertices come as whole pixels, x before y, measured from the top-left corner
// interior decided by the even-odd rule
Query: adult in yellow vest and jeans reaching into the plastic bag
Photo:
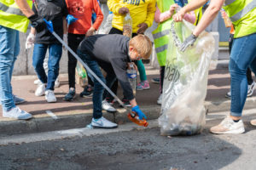
[[[192,0],[173,16],[173,20],[181,21],[184,14],[199,8],[207,0]],[[181,51],[193,45],[196,38],[218,15],[218,11],[224,6],[224,10],[230,17],[235,27],[234,41],[230,54],[231,77],[231,106],[230,116],[210,131],[212,133],[244,133],[244,125],[241,120],[241,112],[247,99],[247,68],[256,73],[256,1],[254,0],[212,0],[203,14],[201,21],[195,27],[192,34],[185,39]],[[256,125],[256,120],[251,121]]]

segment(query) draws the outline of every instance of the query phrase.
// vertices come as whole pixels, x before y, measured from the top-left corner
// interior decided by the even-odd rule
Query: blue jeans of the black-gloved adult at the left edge
[[[0,26],[0,98],[3,111],[9,111],[15,107],[11,78],[19,53],[19,31]]]

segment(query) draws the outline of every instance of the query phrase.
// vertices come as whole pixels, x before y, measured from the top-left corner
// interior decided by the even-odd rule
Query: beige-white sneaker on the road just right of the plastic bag
[[[237,134],[237,133],[244,133],[245,129],[244,129],[242,120],[239,120],[239,122],[234,122],[230,118],[230,116],[227,116],[217,126],[212,127],[210,131],[211,133],[217,133],[217,134]]]

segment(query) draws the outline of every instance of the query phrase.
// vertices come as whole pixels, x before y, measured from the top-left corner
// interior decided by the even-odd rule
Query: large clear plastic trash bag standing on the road
[[[183,20],[172,22],[168,43],[163,100],[159,126],[161,135],[201,133],[206,123],[204,100],[214,38],[206,31],[183,53],[179,47],[195,26]]]

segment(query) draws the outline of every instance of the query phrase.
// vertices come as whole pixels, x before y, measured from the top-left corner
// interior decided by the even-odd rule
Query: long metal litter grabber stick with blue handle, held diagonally
[[[115,94],[113,94],[113,92],[111,91],[111,89],[108,88],[108,86],[107,86],[104,82],[102,82],[102,80],[101,80],[99,77],[97,77],[96,74],[95,74],[93,71],[90,70],[90,67],[89,67],[88,65],[86,65],[82,59],[79,58],[78,54],[75,54],[75,53],[73,52],[73,50],[67,46],[67,43],[64,42],[64,41],[61,39],[61,37],[59,37],[59,36],[55,33],[55,31],[54,31],[54,29],[53,29],[53,26],[52,26],[52,22],[51,22],[50,20],[47,21],[47,20],[45,20],[45,19],[44,19],[44,21],[45,21],[45,23],[46,23],[46,26],[47,26],[48,30],[54,35],[55,38],[57,38],[57,40],[58,40],[59,42],[61,42],[61,44],[62,44],[63,46],[65,46],[65,48],[67,48],[67,50],[68,50],[71,54],[73,54],[73,56],[74,56],[76,59],[79,60],[79,62],[84,66],[84,68],[86,69],[86,71],[89,71],[90,74],[91,74],[93,77],[95,77],[98,82],[100,82],[100,83],[102,84],[102,86],[108,91],[108,93],[111,94],[111,95],[113,96],[113,98],[116,99],[116,100],[119,102],[119,105],[122,105],[122,107],[124,107],[126,111],[129,111],[129,113],[131,114],[132,117],[135,117],[136,114],[134,114],[134,113],[131,111],[131,109],[129,109],[128,107],[126,107],[126,106],[124,105],[124,103],[123,103]]]

